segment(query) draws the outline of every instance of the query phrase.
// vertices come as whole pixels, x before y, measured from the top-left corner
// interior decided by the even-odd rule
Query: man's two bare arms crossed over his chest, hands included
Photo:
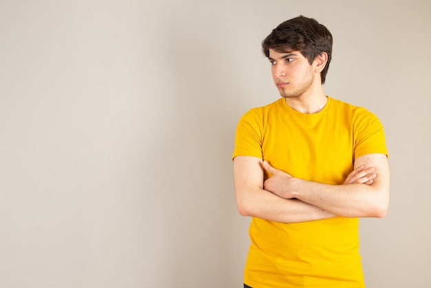
[[[273,174],[266,181],[264,169]],[[356,158],[342,185],[295,178],[252,156],[236,156],[233,174],[243,216],[297,223],[335,216],[381,218],[388,210],[390,173],[383,154]]]

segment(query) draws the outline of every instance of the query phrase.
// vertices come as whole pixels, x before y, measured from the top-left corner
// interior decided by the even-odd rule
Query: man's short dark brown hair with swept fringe
[[[326,52],[328,62],[320,73],[322,84],[325,83],[332,56],[333,36],[315,19],[301,15],[284,21],[262,41],[262,50],[266,57],[269,57],[269,49],[279,53],[299,51],[310,64],[322,52]]]

